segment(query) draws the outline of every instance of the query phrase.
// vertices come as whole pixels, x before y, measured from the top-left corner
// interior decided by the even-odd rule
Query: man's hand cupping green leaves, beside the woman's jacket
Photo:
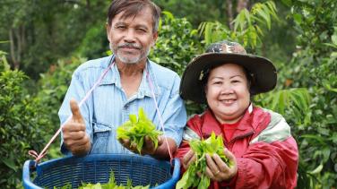
[[[137,150],[137,144],[130,142],[130,140],[120,139],[119,142],[128,150],[133,151],[134,153],[139,153]],[[163,139],[161,136],[158,137],[158,147],[163,143]],[[144,137],[143,149],[141,151],[142,155],[154,155],[156,150],[154,148],[154,142],[152,142],[151,138],[148,136]]]

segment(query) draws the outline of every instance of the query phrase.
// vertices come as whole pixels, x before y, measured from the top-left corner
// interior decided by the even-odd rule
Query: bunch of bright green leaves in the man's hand
[[[139,153],[143,149],[145,136],[151,139],[157,149],[160,134],[161,132],[156,130],[156,126],[147,118],[142,107],[138,110],[138,119],[136,115],[129,115],[129,121],[117,128],[117,139],[130,140],[130,145],[136,145]]]

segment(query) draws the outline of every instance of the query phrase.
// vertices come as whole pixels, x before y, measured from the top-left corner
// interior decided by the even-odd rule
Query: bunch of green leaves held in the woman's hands
[[[229,168],[232,166],[232,162],[224,154],[225,147],[222,137],[216,136],[215,133],[212,133],[211,137],[206,140],[192,140],[189,142],[189,145],[194,150],[196,160],[190,164],[182,178],[177,182],[176,189],[186,189],[196,186],[198,189],[208,188],[210,178],[206,176],[206,154],[212,156],[216,153]],[[200,172],[201,176],[198,176],[197,172]]]

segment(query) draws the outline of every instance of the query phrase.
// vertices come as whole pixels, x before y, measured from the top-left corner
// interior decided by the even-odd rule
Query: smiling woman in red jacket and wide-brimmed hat
[[[233,162],[230,168],[215,154],[206,156],[209,188],[295,188],[298,147],[285,119],[255,107],[252,95],[272,90],[275,67],[268,59],[247,55],[238,43],[212,44],[186,67],[180,85],[183,99],[206,103],[203,115],[186,125],[184,142],[176,152],[183,171],[194,162],[191,139],[222,135]]]

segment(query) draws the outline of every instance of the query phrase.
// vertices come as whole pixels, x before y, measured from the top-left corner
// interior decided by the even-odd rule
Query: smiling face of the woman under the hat
[[[208,106],[220,124],[234,124],[244,116],[250,103],[249,83],[238,64],[212,69],[205,88]]]

